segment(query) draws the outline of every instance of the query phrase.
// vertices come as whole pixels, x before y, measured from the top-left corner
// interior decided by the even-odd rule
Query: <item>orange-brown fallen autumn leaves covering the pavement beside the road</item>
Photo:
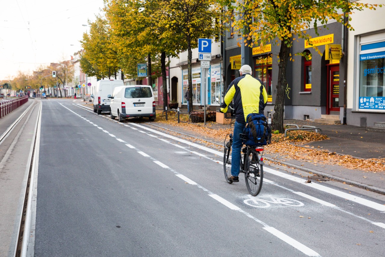
[[[175,112],[169,112],[168,120],[163,115],[162,111],[157,111],[156,122],[166,123],[168,125],[182,127],[186,134],[194,132],[203,139],[216,142],[223,141],[227,134],[231,133],[231,128],[213,129],[215,122],[207,122],[206,126],[203,123],[188,122],[188,115],[180,115],[181,123],[177,123]],[[271,144],[265,146],[265,153],[280,157],[289,157],[291,159],[303,160],[318,164],[338,164],[348,169],[360,169],[362,171],[383,171],[385,170],[385,159],[357,159],[349,155],[341,156],[328,150],[314,149],[306,146],[308,142],[326,140],[326,135],[321,135],[316,132],[307,131],[291,131],[285,138],[283,134],[273,134]],[[206,145],[215,147],[221,150],[222,147],[205,142]],[[298,146],[303,145],[303,146]]]

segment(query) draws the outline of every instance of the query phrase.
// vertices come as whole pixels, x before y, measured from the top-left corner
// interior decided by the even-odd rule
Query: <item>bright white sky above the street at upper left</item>
[[[0,0],[0,81],[69,60],[100,8],[103,0]]]

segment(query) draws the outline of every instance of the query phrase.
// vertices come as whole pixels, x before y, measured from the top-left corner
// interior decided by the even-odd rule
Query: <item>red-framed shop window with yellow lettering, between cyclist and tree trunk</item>
[[[271,79],[273,73],[273,55],[266,54],[256,57],[255,60],[255,73],[256,78],[261,79],[263,85],[266,87],[266,92],[268,96],[268,102],[273,101],[272,88],[271,88]]]

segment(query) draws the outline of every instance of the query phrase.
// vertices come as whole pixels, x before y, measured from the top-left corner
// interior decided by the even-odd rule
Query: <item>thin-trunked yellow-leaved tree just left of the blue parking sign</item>
[[[181,49],[187,50],[188,90],[192,92],[192,49],[198,46],[198,38],[212,38],[219,34],[215,21],[221,18],[218,4],[213,0],[169,0],[162,3],[165,19],[159,22],[167,29],[166,37],[180,37]],[[192,93],[189,97],[192,110]]]

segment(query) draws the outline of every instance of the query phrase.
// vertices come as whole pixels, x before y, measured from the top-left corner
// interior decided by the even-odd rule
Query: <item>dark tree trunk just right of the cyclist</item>
[[[285,117],[285,87],[287,84],[286,80],[286,68],[288,64],[290,54],[290,47],[286,46],[283,42],[281,42],[280,49],[280,63],[278,64],[278,85],[277,88],[277,98],[275,100],[272,127],[273,130],[278,130],[280,133],[283,133],[285,130],[283,129],[283,119]]]

